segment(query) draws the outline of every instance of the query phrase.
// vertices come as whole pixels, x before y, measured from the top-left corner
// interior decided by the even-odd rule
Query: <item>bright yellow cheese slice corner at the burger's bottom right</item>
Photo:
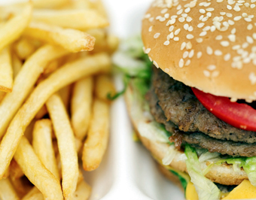
[[[243,180],[223,199],[245,199],[256,198],[256,187],[249,180]]]

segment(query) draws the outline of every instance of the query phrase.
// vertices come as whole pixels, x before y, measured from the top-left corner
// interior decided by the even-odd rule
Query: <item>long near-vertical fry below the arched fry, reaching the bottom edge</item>
[[[73,199],[78,183],[78,154],[75,148],[75,135],[69,116],[59,95],[52,95],[46,102],[53,129],[57,138],[62,166],[62,189],[66,199]]]

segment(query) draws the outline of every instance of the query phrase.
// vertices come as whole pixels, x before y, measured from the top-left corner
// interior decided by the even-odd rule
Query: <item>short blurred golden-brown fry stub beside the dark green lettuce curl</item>
[[[113,96],[116,93],[114,84],[112,83],[111,77],[106,74],[99,74],[96,76],[95,81],[95,95],[106,101],[110,102],[108,95]]]

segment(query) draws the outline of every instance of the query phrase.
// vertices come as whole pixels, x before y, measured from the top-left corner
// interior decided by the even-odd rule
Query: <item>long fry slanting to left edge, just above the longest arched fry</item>
[[[46,45],[38,49],[23,65],[14,79],[13,91],[6,94],[0,103],[0,138],[5,134],[8,124],[29,95],[39,75],[53,59],[68,53],[60,47]],[[1,151],[1,147],[0,147]]]

